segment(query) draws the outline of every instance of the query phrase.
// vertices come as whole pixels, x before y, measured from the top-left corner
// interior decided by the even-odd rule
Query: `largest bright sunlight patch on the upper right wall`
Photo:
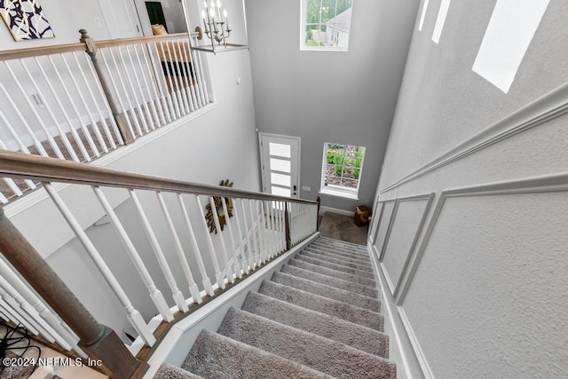
[[[497,0],[472,70],[507,93],[550,0]]]

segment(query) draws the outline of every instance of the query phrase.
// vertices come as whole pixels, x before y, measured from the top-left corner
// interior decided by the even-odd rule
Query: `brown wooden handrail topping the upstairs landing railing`
[[[198,33],[195,32],[191,33],[192,37],[197,35]],[[175,33],[175,34],[160,35],[160,36],[142,36],[142,37],[133,37],[133,38],[109,39],[109,40],[97,41],[97,47],[103,48],[103,47],[112,47],[112,46],[123,46],[125,44],[134,44],[134,43],[161,42],[161,41],[169,41],[172,39],[185,38],[187,36],[188,36],[187,33]],[[81,42],[32,47],[29,49],[5,50],[5,51],[0,51],[0,61],[10,60],[10,59],[41,57],[44,55],[62,54],[65,52],[84,51],[84,50],[85,50],[85,44]]]

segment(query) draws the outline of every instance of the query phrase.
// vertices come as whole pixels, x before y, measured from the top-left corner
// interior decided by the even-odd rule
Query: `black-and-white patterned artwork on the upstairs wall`
[[[39,0],[0,0],[0,14],[14,41],[55,36]]]

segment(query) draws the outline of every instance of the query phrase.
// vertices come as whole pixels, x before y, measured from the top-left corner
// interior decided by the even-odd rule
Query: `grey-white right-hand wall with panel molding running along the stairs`
[[[505,94],[471,69],[495,4],[452,2],[438,44],[440,1],[416,22],[377,190],[389,328],[418,377],[568,375],[568,5]]]

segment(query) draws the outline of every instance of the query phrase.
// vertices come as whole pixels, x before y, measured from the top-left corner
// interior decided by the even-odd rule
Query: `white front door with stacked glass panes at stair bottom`
[[[298,198],[300,138],[258,133],[265,193]]]

